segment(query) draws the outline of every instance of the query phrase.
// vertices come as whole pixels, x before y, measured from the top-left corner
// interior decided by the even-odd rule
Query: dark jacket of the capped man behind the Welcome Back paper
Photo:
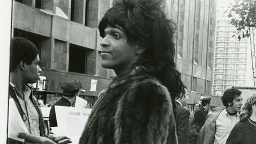
[[[71,107],[71,103],[65,97],[62,97],[59,101],[57,101],[55,103],[55,105]],[[55,105],[53,105],[53,107],[50,110],[50,114],[49,114],[50,127],[56,127],[57,126]]]

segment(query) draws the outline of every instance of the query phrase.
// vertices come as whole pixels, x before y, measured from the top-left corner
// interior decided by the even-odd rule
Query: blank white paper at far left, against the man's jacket
[[[9,99],[9,117],[8,117],[8,137],[20,142],[24,142],[24,139],[18,138],[18,133],[29,133],[23,119],[18,112],[18,108],[15,105],[13,98]]]

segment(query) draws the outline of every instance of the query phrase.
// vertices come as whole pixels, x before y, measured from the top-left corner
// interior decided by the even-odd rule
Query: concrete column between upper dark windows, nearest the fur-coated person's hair
[[[74,21],[76,23],[85,24],[85,7],[86,0],[75,1]]]

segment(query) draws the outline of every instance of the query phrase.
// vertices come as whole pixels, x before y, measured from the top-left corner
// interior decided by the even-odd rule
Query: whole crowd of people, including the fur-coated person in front
[[[100,92],[79,143],[189,143],[190,124],[197,126],[197,143],[256,143],[256,97],[242,108],[241,91],[227,89],[224,107],[210,110],[210,98],[197,110],[185,106],[188,91],[175,68],[175,24],[162,11],[161,0],[117,0],[105,12],[98,30],[103,38],[101,66],[116,78]],[[43,117],[27,84],[39,78],[37,47],[21,37],[11,41],[9,98],[13,98],[30,143],[71,143],[66,136],[45,135]],[[63,97],[55,105],[72,106],[81,82],[62,84]],[[197,107],[198,106],[198,107]],[[240,113],[242,108],[242,112]],[[210,112],[209,112],[210,110]],[[50,126],[56,125],[55,109]],[[8,143],[19,143],[8,139]]]

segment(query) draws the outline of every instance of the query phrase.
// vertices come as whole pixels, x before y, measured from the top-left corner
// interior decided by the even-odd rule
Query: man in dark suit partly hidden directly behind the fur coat
[[[188,144],[190,111],[185,108],[188,101],[187,88],[184,86],[183,93],[175,101],[175,122],[179,144]]]

